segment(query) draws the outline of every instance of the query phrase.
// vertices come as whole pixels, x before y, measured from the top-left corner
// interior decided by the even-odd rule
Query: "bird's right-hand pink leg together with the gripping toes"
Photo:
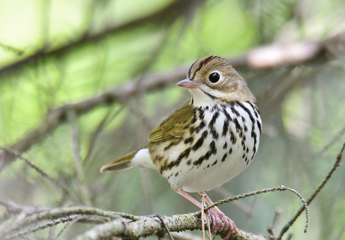
[[[207,196],[207,194],[205,192],[198,192],[200,195],[203,194],[205,195],[205,201],[212,205],[213,202],[211,201],[211,199]],[[227,229],[229,227],[229,231],[225,236],[225,240],[229,239],[230,234],[234,231],[235,234],[238,233],[238,230],[233,222],[233,220],[231,220],[230,218],[228,218],[223,212],[221,212],[219,210],[219,208],[217,207],[213,207],[213,210],[209,210],[209,213],[211,215],[212,218],[212,234],[216,234],[217,230],[218,230],[218,226],[220,226],[221,229],[223,229],[223,227],[225,229]],[[225,226],[223,226],[223,222],[221,221],[221,219],[224,220],[225,222]]]

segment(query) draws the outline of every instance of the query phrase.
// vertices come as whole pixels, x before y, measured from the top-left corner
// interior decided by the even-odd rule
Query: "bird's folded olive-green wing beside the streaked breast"
[[[193,107],[190,102],[185,103],[170,116],[164,119],[148,137],[150,142],[163,142],[181,137],[193,119]]]

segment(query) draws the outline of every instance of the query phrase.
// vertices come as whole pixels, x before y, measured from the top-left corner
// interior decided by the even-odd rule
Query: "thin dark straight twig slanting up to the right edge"
[[[327,183],[327,181],[331,178],[333,172],[340,165],[340,161],[342,160],[342,157],[343,157],[344,148],[345,148],[345,142],[343,143],[343,146],[342,146],[340,152],[337,154],[336,159],[335,159],[335,163],[333,164],[331,170],[328,172],[325,179],[320,183],[320,185],[318,185],[317,189],[308,198],[308,200],[306,201],[307,204],[310,204],[314,200],[315,196],[321,191],[321,189],[324,187],[324,185]],[[282,239],[284,233],[292,226],[292,224],[296,221],[296,219],[299,217],[299,215],[303,212],[304,209],[305,209],[305,206],[302,206],[297,211],[295,216],[283,227],[282,231],[280,231],[279,236],[277,237],[278,240]]]

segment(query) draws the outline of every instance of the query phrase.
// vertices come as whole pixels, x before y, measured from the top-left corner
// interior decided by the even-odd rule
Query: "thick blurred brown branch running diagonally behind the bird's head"
[[[309,46],[309,44],[310,43],[305,43],[306,46]],[[298,49],[299,49],[300,46],[304,44],[299,43],[296,45],[298,46]],[[309,49],[309,51],[313,51],[314,55],[312,53],[305,54],[304,60],[299,59],[298,61],[277,61],[274,67],[280,67],[286,64],[288,65],[289,64],[298,65],[301,63],[306,64],[310,61],[322,61],[325,59],[325,55],[331,55],[331,56],[335,55],[333,51],[327,52],[327,50],[330,49],[329,47],[330,45],[331,46],[337,45],[339,48],[341,48],[341,46],[344,46],[345,33],[338,35],[334,38],[330,38],[325,41],[315,43],[315,46],[318,46],[318,48],[306,47],[307,49]],[[257,65],[255,64],[255,61],[251,57],[252,52],[254,52],[256,56],[258,55],[258,52],[260,52],[261,54],[263,54],[262,58],[264,58],[267,55],[267,51],[269,51],[270,48],[272,48],[272,46],[267,46],[264,48],[260,47],[260,51],[256,51],[254,49],[246,55],[229,59],[229,62],[231,65],[234,66],[234,68],[256,67]],[[291,50],[292,47],[291,46],[275,47],[276,51],[279,51],[278,49],[280,49],[282,52],[286,52],[286,48]],[[337,54],[339,54],[339,52],[337,52]],[[260,59],[260,58],[255,57],[254,59]],[[269,67],[273,67],[273,65],[272,64],[265,65],[265,66],[261,65],[261,68],[269,68]],[[65,121],[66,109],[73,109],[77,115],[87,113],[88,111],[90,111],[91,109],[97,106],[110,105],[114,102],[119,101],[120,99],[127,98],[130,96],[136,95],[138,93],[156,90],[168,84],[176,83],[178,79],[182,79],[183,77],[185,77],[187,70],[188,70],[187,66],[180,66],[167,72],[148,74],[148,75],[143,76],[142,79],[138,83],[136,83],[135,80],[129,80],[127,83],[124,83],[118,86],[117,88],[110,90],[108,92],[105,92],[101,95],[86,99],[79,103],[67,104],[62,107],[52,109],[47,113],[46,118],[43,119],[41,124],[36,129],[34,129],[30,133],[28,133],[26,136],[21,138],[18,142],[10,146],[10,148],[19,153],[23,153],[27,151],[28,149],[30,149],[30,147],[34,143],[36,143],[42,137],[45,137],[45,135],[49,133],[50,131],[52,131],[60,122]],[[1,70],[0,70],[0,73],[1,73]],[[16,156],[13,154],[10,154],[8,152],[0,153],[0,167],[1,167],[1,164],[8,164],[15,159],[16,159]]]

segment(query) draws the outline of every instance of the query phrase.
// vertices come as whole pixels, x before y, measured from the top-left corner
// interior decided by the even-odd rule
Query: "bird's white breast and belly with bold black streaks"
[[[253,104],[203,106],[196,113],[204,117],[197,118],[195,124],[200,128],[191,134],[194,140],[172,147],[168,162],[189,148],[188,155],[162,173],[174,188],[186,192],[209,191],[241,173],[253,160],[260,138],[261,119]]]

